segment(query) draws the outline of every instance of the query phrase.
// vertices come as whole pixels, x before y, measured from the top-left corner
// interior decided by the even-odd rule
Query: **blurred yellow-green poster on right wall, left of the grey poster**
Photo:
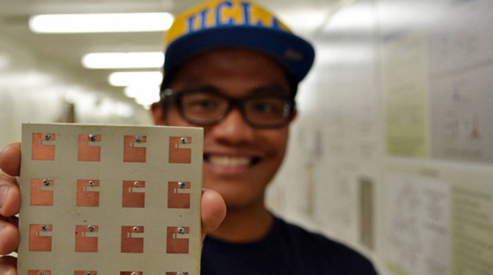
[[[427,156],[427,63],[421,33],[383,37],[382,89],[387,155]]]

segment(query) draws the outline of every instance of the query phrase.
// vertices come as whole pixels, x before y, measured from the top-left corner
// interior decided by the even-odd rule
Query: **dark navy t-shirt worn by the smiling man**
[[[376,275],[356,251],[274,218],[262,240],[234,244],[206,237],[201,275]]]

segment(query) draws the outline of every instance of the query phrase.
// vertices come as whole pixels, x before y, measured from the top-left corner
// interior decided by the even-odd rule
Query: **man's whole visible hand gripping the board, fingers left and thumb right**
[[[12,143],[0,153],[0,254],[17,251],[19,229],[17,218],[21,195],[19,176],[21,168],[21,143]],[[226,204],[219,193],[204,190],[202,193],[202,240],[219,226],[226,216]],[[0,258],[0,274],[16,275],[17,259]]]

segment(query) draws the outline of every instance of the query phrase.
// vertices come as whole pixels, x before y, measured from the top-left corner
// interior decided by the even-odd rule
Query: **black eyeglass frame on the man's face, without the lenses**
[[[205,123],[205,122],[193,120],[193,119],[186,117],[186,115],[183,111],[183,107],[181,105],[181,102],[182,102],[181,98],[184,95],[191,94],[191,93],[197,93],[198,91],[200,91],[201,93],[211,94],[211,95],[223,98],[228,102],[228,108],[224,111],[224,114],[222,115],[221,118],[214,120],[214,121],[211,121],[211,122],[208,122],[208,123]],[[271,97],[271,96],[266,96],[266,97]],[[248,124],[251,127],[263,128],[263,129],[282,128],[282,127],[289,124],[289,122],[291,120],[291,115],[293,114],[293,111],[296,110],[296,102],[294,101],[293,98],[291,98],[289,96],[275,95],[275,97],[279,97],[282,100],[284,100],[284,108],[288,107],[289,109],[287,112],[285,112],[284,117],[283,117],[283,121],[281,123],[262,125],[262,124],[256,124],[256,123],[249,121],[247,116],[246,116],[246,111],[244,108],[245,103],[247,101],[249,101],[251,99],[262,98],[262,96],[251,95],[251,96],[248,96],[248,97],[245,97],[242,99],[235,99],[235,98],[231,98],[231,97],[228,97],[228,96],[223,95],[221,93],[217,93],[217,92],[207,90],[207,89],[206,90],[183,89],[183,90],[179,90],[179,91],[174,91],[173,89],[167,88],[167,89],[164,89],[161,91],[162,107],[163,107],[163,109],[165,109],[164,110],[165,113],[166,113],[166,108],[168,107],[168,104],[173,103],[177,106],[178,113],[180,114],[180,116],[184,120],[186,120],[187,122],[193,123],[193,124],[204,125],[204,126],[210,126],[210,125],[215,125],[215,124],[220,123],[221,121],[223,121],[228,116],[228,114],[231,112],[231,110],[233,110],[233,108],[238,108],[238,110],[240,110],[240,112],[242,114],[243,120],[246,122],[246,124]],[[286,105],[289,105],[289,106],[286,106]]]

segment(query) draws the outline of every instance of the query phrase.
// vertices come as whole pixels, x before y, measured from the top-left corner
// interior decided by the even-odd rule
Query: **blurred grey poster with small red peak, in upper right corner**
[[[431,28],[434,158],[493,162],[493,1],[444,1]]]

